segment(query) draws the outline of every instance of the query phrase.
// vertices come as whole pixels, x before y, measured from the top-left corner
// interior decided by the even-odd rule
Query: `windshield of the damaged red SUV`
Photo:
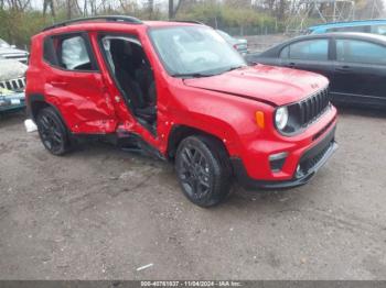
[[[165,69],[175,77],[212,76],[246,66],[244,58],[206,26],[153,29],[150,36]]]

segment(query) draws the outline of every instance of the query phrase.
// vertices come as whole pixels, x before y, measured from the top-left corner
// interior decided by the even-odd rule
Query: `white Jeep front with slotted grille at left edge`
[[[25,70],[26,65],[0,56],[0,112],[25,107]]]

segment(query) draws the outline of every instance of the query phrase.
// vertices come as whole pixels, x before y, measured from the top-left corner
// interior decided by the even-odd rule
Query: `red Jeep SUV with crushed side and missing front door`
[[[247,66],[213,29],[130,16],[73,20],[32,38],[26,102],[44,146],[98,136],[174,163],[210,207],[247,188],[305,184],[335,151],[323,76]]]

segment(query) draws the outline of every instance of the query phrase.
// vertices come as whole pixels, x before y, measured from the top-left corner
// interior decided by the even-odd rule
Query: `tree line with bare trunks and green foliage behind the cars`
[[[129,14],[143,20],[196,20],[235,35],[283,32],[303,0],[0,0],[0,37],[28,45],[42,27],[66,19]],[[356,18],[378,18],[382,0],[355,0]],[[312,4],[310,2],[310,4]],[[332,7],[318,2],[319,12]],[[310,23],[320,21],[309,10]],[[318,13],[319,13],[318,12]]]

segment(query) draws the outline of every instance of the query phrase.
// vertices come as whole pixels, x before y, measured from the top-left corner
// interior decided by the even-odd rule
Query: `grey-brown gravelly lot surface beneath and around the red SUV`
[[[235,186],[212,209],[170,164],[101,143],[55,157],[3,117],[0,278],[386,279],[386,113],[340,113],[340,149],[309,185]]]

